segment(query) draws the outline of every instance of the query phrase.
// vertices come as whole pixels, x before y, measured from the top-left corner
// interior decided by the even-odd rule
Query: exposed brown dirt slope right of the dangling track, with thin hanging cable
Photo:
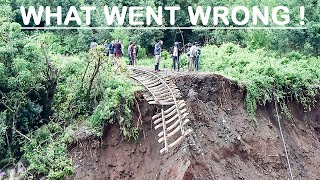
[[[183,76],[176,84],[194,112],[193,138],[202,154],[191,151],[190,174],[205,173],[206,179],[288,179],[272,106],[260,107],[254,123],[246,117],[244,93],[225,78]],[[309,113],[291,109],[294,118],[282,125],[294,177],[319,179],[320,108]],[[202,167],[205,172],[199,172]]]

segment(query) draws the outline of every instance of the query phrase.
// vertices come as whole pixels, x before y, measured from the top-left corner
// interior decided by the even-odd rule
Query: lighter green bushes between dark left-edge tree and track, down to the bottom
[[[126,77],[115,75],[104,55],[91,53],[90,57],[102,58],[100,73],[92,87],[90,82],[98,65],[92,61],[97,59],[88,58],[88,54],[82,58],[55,57],[60,76],[53,103],[53,122],[31,134],[30,142],[25,141],[23,158],[29,164],[29,172],[49,179],[70,175],[72,162],[67,156],[67,147],[81,127],[88,127],[90,133],[102,137],[104,123],[118,122],[125,138],[137,139],[138,128],[131,123],[133,93],[137,87]]]

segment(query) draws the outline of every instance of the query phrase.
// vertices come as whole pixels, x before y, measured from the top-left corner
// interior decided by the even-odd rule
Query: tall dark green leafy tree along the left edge
[[[4,22],[0,34],[0,164],[20,153],[21,134],[37,129],[47,120],[48,96],[54,85],[41,48],[25,38],[17,23]],[[46,104],[44,104],[46,102]]]

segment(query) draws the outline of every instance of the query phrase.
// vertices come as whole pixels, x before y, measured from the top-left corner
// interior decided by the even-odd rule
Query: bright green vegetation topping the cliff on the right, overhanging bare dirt
[[[286,103],[297,100],[310,110],[320,84],[320,59],[299,52],[284,57],[263,49],[250,51],[235,44],[203,48],[203,71],[221,73],[244,85],[246,106],[255,114],[257,104],[276,100],[286,109]]]

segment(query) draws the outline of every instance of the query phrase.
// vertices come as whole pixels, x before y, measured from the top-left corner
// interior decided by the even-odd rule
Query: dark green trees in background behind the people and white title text
[[[33,5],[37,7],[38,1],[28,1],[26,3],[22,0],[11,0],[7,1],[7,5],[10,4],[10,8],[13,10],[13,20],[22,24],[22,19],[19,12],[21,5]],[[264,6],[275,7],[280,4],[274,0],[267,0],[263,2],[257,2],[254,0],[250,1],[216,1],[212,2],[209,0],[184,0],[183,3],[178,0],[165,0],[165,1],[145,1],[140,0],[136,2],[134,0],[115,0],[115,1],[47,1],[41,3],[42,6],[62,6],[63,12],[67,13],[70,6],[96,6],[97,12],[94,14],[91,26],[106,26],[105,17],[103,14],[103,6],[134,6],[139,4],[140,6],[174,6],[179,5],[181,10],[176,14],[176,27],[190,26],[190,20],[188,19],[188,6],[227,6],[233,7],[236,5],[242,5],[247,7],[259,6],[263,9]],[[279,51],[279,54],[291,50],[298,50],[311,55],[319,55],[319,40],[320,40],[320,5],[317,1],[312,1],[309,4],[303,4],[301,1],[294,0],[290,2],[282,2],[282,6],[287,6],[290,11],[290,22],[289,26],[297,26],[300,22],[299,7],[305,6],[305,23],[308,27],[307,30],[182,30],[183,39],[185,42],[198,41],[202,43],[211,43],[220,45],[225,42],[233,42],[240,44],[241,46],[249,46],[250,48],[262,48],[266,47],[271,50]],[[84,12],[79,11],[80,16],[84,18]],[[169,11],[163,11],[165,19],[169,19]],[[7,16],[7,12],[3,13]],[[64,14],[66,16],[66,14]],[[241,16],[239,15],[239,18]],[[230,19],[231,20],[231,19]],[[164,21],[168,23],[168,21]],[[231,21],[230,21],[231,22]],[[42,23],[44,25],[44,23]],[[169,24],[164,24],[169,26]],[[212,19],[209,20],[209,26],[212,26]],[[232,26],[232,24],[231,24]],[[250,26],[250,24],[248,25]],[[272,24],[270,25],[272,26]],[[105,40],[111,40],[112,34],[119,34],[119,30],[86,30],[86,31],[59,31],[56,33],[59,37],[59,42],[66,48],[61,50],[63,54],[74,54],[80,51],[88,49],[90,40],[95,37],[101,43]],[[260,32],[261,31],[261,32]],[[180,34],[180,35],[179,35]],[[165,47],[170,47],[173,44],[173,40],[182,41],[181,33],[177,30],[128,30],[125,36],[122,37],[125,41],[135,41],[142,47],[147,48],[150,52],[153,44],[158,39],[164,40]],[[69,44],[76,44],[76,46],[70,46]]]

